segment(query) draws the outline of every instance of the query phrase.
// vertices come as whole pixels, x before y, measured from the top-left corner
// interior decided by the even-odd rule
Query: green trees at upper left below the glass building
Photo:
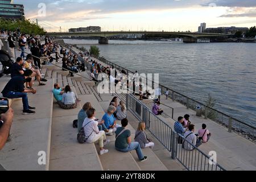
[[[19,28],[20,32],[33,35],[45,35],[46,31],[30,20],[7,20],[0,19],[0,28],[8,31],[15,31]]]

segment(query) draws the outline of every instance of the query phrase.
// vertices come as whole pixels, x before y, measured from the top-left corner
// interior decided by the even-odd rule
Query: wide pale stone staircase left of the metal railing
[[[58,64],[58,63],[56,63]],[[60,65],[60,64],[59,64]],[[35,95],[29,94],[31,106],[36,107],[35,115],[22,115],[22,101],[15,100],[13,107],[15,115],[11,127],[11,140],[0,151],[0,164],[6,170],[121,170],[121,171],[150,171],[150,170],[183,170],[179,162],[171,159],[168,152],[158,140],[148,133],[155,142],[153,150],[143,149],[148,156],[145,162],[139,162],[135,151],[119,152],[114,148],[115,137],[107,136],[110,143],[105,146],[108,154],[98,155],[99,146],[94,143],[80,144],[77,142],[77,129],[72,122],[85,102],[91,102],[96,109],[96,117],[101,119],[109,106],[112,94],[98,94],[97,86],[89,80],[88,73],[70,77],[68,71],[62,71],[55,65],[44,65],[42,73],[46,75],[46,86],[37,86]],[[87,77],[88,79],[85,79]],[[9,77],[2,77],[1,90]],[[53,98],[53,84],[59,82],[60,86],[70,85],[80,98],[76,109],[63,110]],[[125,101],[125,95],[118,97]],[[128,113],[128,129],[131,130],[132,139],[138,127],[138,119]],[[121,124],[120,121],[118,121]],[[42,153],[43,152],[43,153]],[[45,155],[42,155],[45,154]],[[45,157],[45,158],[44,158]]]

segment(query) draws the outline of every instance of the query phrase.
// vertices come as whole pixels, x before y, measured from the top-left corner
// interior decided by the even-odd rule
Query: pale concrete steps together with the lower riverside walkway
[[[77,53],[80,52],[76,48],[73,50]],[[20,52],[17,51],[17,55],[19,54]],[[93,57],[92,59],[96,60]],[[55,63],[55,61],[53,63],[61,66],[61,63]],[[20,115],[22,113],[21,100],[15,100],[11,106],[15,111],[10,132],[11,141],[6,143],[5,148],[0,151],[0,164],[6,170],[187,170],[178,160],[171,159],[171,153],[149,132],[147,135],[155,142],[155,147],[152,150],[150,148],[143,149],[143,153],[148,156],[143,163],[138,161],[135,152],[122,153],[114,150],[114,136],[108,137],[111,140],[110,144],[106,146],[109,153],[102,156],[97,154],[97,144],[77,143],[77,129],[73,129],[72,121],[77,119],[77,113],[82,105],[85,102],[91,102],[96,108],[96,117],[101,118],[113,96],[112,94],[99,95],[97,93],[97,86],[90,81],[89,70],[80,72],[80,76],[70,77],[67,71],[62,71],[55,65],[48,65],[42,68],[42,72],[47,73],[47,85],[43,87],[35,85],[38,93],[28,96],[31,105],[36,107],[36,114]],[[10,77],[7,76],[0,78],[1,89],[9,79]],[[76,109],[62,110],[59,108],[51,92],[54,82],[59,82],[61,86],[72,86],[72,90],[81,99]],[[114,95],[118,96],[119,100],[125,100],[126,97],[125,94]],[[192,123],[196,124],[196,129],[199,129],[201,123],[207,124],[212,138],[208,143],[202,144],[200,149],[205,154],[208,154],[208,151],[216,151],[217,163],[222,167],[227,170],[256,170],[255,143],[236,133],[228,133],[228,129],[210,119],[196,117],[195,111],[186,109],[178,102],[164,100],[163,97],[161,101],[174,107],[174,118],[189,114]],[[143,102],[147,105],[152,104],[147,100]],[[171,115],[170,108],[161,107],[166,115]],[[129,120],[128,128],[131,130],[133,139],[139,121],[130,111],[128,111],[127,118]],[[175,122],[170,117],[161,119],[171,127]],[[46,152],[46,164],[38,163],[39,151]]]

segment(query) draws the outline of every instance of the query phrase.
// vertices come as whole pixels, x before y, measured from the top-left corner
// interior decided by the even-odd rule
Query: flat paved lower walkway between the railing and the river
[[[80,52],[77,48],[73,49],[77,53]],[[98,61],[98,63],[101,63],[102,65],[106,65],[98,59],[93,57],[92,59]],[[119,98],[122,98],[122,96],[119,96]],[[166,100],[164,95],[162,95],[160,101],[164,105],[174,108],[174,119],[177,119],[179,116],[184,116],[184,114],[189,114],[191,123],[196,126],[196,132],[201,129],[203,123],[207,125],[207,129],[212,136],[210,137],[209,142],[203,143],[199,148],[204,151],[205,154],[209,154],[210,151],[216,151],[217,163],[222,167],[227,170],[256,170],[256,144],[254,142],[251,142],[233,131],[229,133],[226,127],[223,127],[209,118],[205,119],[204,117],[197,117],[196,111],[187,109],[184,105],[172,101],[170,98]],[[143,100],[143,102],[149,107],[153,104],[153,101],[151,100]],[[166,117],[166,115],[172,115],[172,110],[170,107],[164,105],[160,105],[160,107],[164,110],[165,115],[164,117],[159,116],[159,118],[167,122],[168,125],[173,128],[175,120],[171,117]],[[134,125],[134,127],[136,126]],[[157,152],[157,149],[155,152]]]

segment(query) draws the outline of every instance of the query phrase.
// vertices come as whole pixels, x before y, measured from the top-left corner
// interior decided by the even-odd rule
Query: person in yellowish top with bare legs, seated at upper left
[[[36,80],[38,80],[39,85],[46,85],[46,84],[42,83],[42,81],[47,81],[47,80],[42,78],[42,75],[41,75],[39,69],[36,69],[36,67],[32,66],[32,61],[33,61],[32,55],[28,54],[26,61],[24,61],[24,63],[23,63],[23,67],[25,69],[32,70],[33,73],[31,75],[31,77],[36,77]]]

